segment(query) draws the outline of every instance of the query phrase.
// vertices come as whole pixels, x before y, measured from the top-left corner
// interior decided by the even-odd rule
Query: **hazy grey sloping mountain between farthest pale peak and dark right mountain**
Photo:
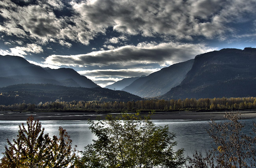
[[[182,82],[187,72],[191,69],[193,61],[192,59],[163,68],[146,77],[135,80],[122,90],[140,97],[163,95]]]

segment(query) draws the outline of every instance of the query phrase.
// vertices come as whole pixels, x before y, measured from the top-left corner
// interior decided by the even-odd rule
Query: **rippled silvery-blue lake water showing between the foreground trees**
[[[211,148],[211,138],[206,129],[210,128],[209,121],[189,121],[189,120],[152,120],[155,125],[165,126],[169,125],[169,130],[176,134],[175,141],[178,142],[174,146],[174,150],[179,148],[185,149],[185,156],[192,154],[191,151],[197,149],[202,150]],[[6,139],[11,142],[16,139],[19,125],[26,121],[0,121],[0,158],[3,157],[2,152],[5,151],[4,146],[7,145]],[[217,121],[223,122],[223,121]],[[244,119],[246,123],[245,130],[250,131],[255,119]],[[59,135],[59,126],[67,130],[72,139],[72,144],[77,145],[78,150],[83,150],[83,147],[93,143],[96,139],[95,135],[89,130],[87,121],[41,121],[42,127],[45,127],[45,133]]]

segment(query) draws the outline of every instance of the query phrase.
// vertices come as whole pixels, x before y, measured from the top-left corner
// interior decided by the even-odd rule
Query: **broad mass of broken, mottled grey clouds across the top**
[[[224,40],[226,33],[236,33],[236,27],[229,23],[255,22],[256,18],[254,0],[24,2],[26,5],[9,0],[0,2],[4,20],[0,32],[37,39],[43,44],[51,39],[56,42],[69,39],[89,45],[97,34],[105,34],[108,27],[129,35],[172,36],[176,40],[204,36]]]

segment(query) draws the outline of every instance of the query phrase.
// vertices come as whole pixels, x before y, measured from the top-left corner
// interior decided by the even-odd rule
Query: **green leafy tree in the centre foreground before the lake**
[[[150,115],[124,113],[105,121],[89,121],[98,137],[85,146],[78,167],[88,168],[178,168],[186,162],[184,149],[176,152],[175,135],[168,126],[155,126]]]

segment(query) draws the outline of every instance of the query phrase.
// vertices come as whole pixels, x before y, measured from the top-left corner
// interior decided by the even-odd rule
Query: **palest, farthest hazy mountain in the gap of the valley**
[[[126,86],[130,85],[131,83],[133,83],[136,79],[139,79],[141,77],[145,77],[145,75],[143,76],[137,76],[137,77],[132,77],[132,78],[124,78],[120,81],[117,81],[111,85],[106,86],[105,88],[108,89],[112,89],[112,90],[122,90],[124,89]]]

